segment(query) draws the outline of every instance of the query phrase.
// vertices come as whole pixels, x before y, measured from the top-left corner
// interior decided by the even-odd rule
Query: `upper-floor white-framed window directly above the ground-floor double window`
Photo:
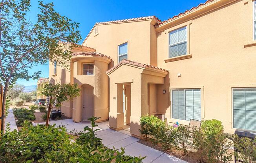
[[[187,54],[187,26],[169,32],[169,58]]]

